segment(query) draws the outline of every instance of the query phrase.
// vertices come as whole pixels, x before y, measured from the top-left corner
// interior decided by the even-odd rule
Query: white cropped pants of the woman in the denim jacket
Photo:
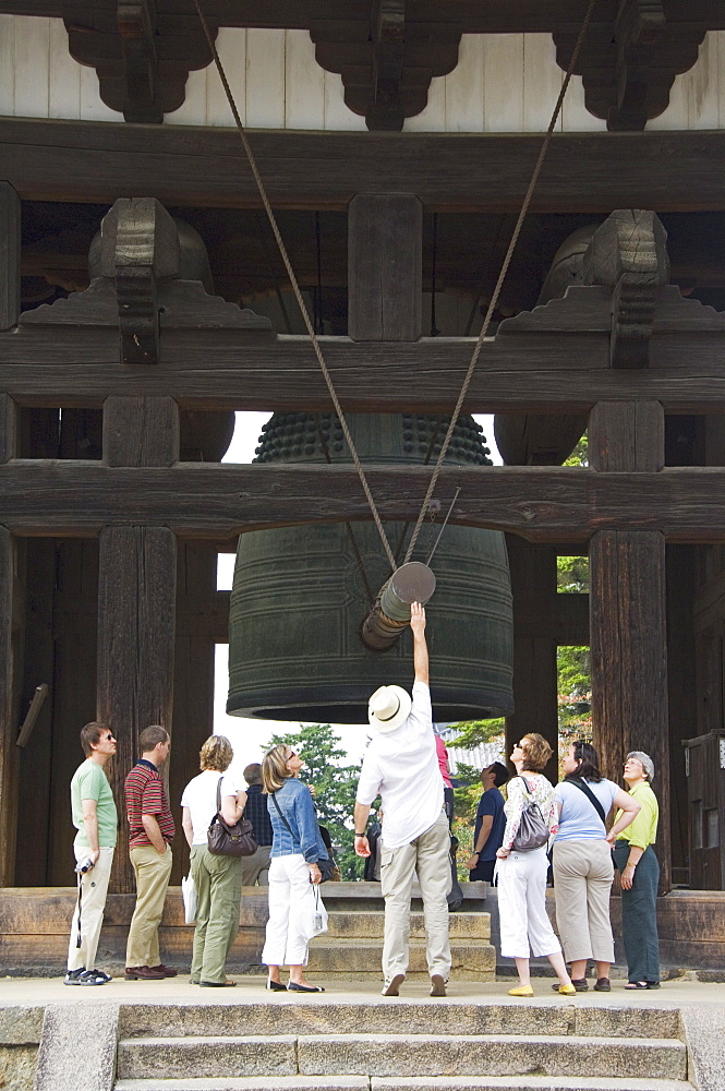
[[[301,852],[273,856],[269,865],[269,920],[262,961],[265,966],[306,966],[303,921],[312,912],[310,867]]]

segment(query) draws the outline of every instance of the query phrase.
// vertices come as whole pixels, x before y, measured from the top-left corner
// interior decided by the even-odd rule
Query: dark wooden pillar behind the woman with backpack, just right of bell
[[[558,679],[553,623],[556,549],[507,536],[513,597],[513,716],[506,717],[506,756],[521,735],[536,731],[554,754],[546,768],[558,780]]]

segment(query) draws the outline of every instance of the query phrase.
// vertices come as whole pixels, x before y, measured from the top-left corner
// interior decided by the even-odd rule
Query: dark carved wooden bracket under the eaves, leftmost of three
[[[64,22],[71,56],[96,69],[100,97],[126,121],[162,122],[183,104],[190,71],[212,62],[198,19],[157,15],[156,0],[118,0],[88,26]]]

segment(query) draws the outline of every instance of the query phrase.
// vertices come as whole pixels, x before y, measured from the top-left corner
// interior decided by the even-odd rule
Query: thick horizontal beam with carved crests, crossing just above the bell
[[[0,391],[35,406],[143,395],[171,396],[185,409],[329,410],[309,338],[277,336],[266,320],[189,281],[160,285],[159,303],[159,362],[143,368],[118,359],[110,290],[94,287],[28,312],[17,331],[0,334]],[[668,411],[725,409],[725,314],[672,285],[660,288],[650,367],[629,371],[609,367],[611,312],[606,287],[575,287],[502,323],[483,347],[464,409],[587,412],[599,400],[650,400],[655,382]],[[464,337],[321,344],[348,412],[449,412],[474,347]]]

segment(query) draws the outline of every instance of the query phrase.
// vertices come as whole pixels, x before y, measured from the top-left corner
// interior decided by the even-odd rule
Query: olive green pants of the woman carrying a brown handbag
[[[193,844],[191,873],[196,887],[196,928],[191,980],[225,981],[225,964],[239,932],[241,856],[215,856]]]

